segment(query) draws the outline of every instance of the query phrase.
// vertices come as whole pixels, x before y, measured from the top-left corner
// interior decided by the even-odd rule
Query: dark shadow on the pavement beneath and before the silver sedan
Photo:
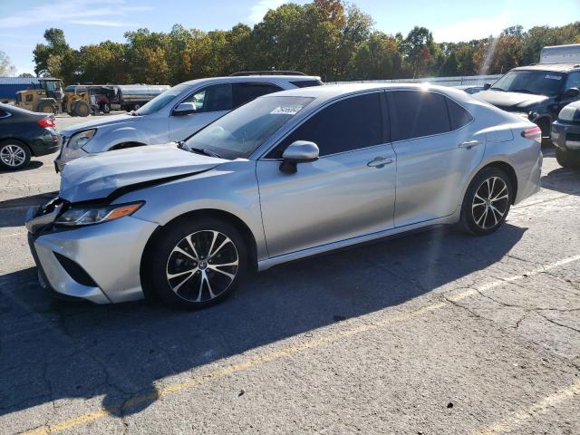
[[[100,396],[112,414],[133,414],[162,378],[428,294],[498,262],[525,231],[440,228],[276,266],[197,312],[64,303],[34,267],[0,275],[0,415]]]

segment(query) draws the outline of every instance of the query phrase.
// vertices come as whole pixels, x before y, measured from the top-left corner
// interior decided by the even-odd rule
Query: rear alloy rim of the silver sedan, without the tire
[[[473,197],[471,211],[475,224],[481,229],[496,227],[509,206],[509,190],[499,177],[485,179]]]

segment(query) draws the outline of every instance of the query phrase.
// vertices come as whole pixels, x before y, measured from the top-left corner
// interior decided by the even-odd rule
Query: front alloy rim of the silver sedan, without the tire
[[[203,230],[183,237],[171,250],[166,278],[171,290],[189,302],[208,302],[234,282],[237,247],[225,234]]]

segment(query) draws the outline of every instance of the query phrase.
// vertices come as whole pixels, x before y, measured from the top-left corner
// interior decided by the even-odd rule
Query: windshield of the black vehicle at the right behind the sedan
[[[507,92],[535,93],[537,95],[556,95],[562,87],[563,73],[551,71],[510,71],[491,89]]]

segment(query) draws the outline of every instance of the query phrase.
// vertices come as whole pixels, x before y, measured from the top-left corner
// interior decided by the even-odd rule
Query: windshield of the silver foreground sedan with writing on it
[[[186,141],[224,159],[247,158],[266,139],[312,102],[307,97],[261,97],[208,125]]]

